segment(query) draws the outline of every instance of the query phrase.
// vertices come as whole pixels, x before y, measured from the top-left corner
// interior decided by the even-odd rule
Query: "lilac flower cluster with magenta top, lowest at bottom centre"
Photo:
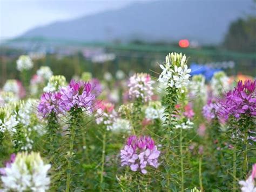
[[[130,166],[133,172],[140,170],[147,173],[146,166],[157,168],[160,151],[154,144],[153,139],[147,136],[130,136],[123,150],[120,152],[121,166]]]

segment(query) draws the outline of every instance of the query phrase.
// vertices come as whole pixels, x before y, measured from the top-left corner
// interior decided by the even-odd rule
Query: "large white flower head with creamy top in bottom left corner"
[[[50,164],[44,164],[39,153],[18,153],[6,167],[1,169],[3,188],[6,191],[46,191],[50,177],[47,175]]]

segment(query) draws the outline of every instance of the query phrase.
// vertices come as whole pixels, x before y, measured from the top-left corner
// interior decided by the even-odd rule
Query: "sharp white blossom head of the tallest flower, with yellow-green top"
[[[158,81],[163,83],[166,87],[175,87],[184,93],[188,86],[191,69],[186,65],[186,55],[181,53],[169,53],[165,57],[165,65],[160,65],[163,69]]]

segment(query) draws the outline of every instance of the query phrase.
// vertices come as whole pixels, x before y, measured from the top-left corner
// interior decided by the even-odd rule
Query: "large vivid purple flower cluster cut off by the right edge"
[[[225,120],[234,116],[239,119],[241,115],[256,116],[256,81],[239,81],[234,90],[229,91],[220,103],[218,115]]]

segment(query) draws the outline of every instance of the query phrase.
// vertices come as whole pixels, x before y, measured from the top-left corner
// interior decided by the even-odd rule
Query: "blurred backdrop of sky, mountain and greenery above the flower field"
[[[193,74],[217,70],[256,76],[256,1],[253,0],[0,0],[0,85],[18,79],[16,60],[33,59],[33,73],[90,72],[102,79],[157,76],[169,52],[190,57]]]

